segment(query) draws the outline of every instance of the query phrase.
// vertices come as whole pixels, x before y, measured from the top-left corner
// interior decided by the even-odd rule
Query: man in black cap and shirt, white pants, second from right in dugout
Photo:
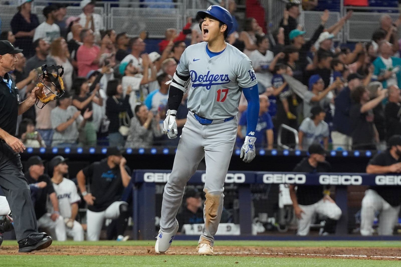
[[[320,144],[312,144],[308,149],[309,157],[304,158],[294,168],[296,173],[327,173],[330,164],[325,161],[326,154]],[[295,215],[298,218],[297,235],[308,235],[310,224],[316,215],[327,217],[324,232],[334,233],[336,221],[341,217],[341,209],[326,194],[323,185],[290,185],[290,197]],[[334,220],[334,221],[333,221]]]

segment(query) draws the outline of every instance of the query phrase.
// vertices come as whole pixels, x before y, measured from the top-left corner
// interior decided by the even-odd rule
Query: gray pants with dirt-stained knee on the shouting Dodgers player
[[[213,246],[223,211],[224,182],[233,155],[237,137],[238,118],[217,124],[200,124],[192,112],[188,112],[182,129],[170,178],[164,187],[160,229],[172,231],[180,208],[185,185],[194,175],[199,162],[205,157],[206,179],[203,191],[206,201],[203,209],[205,225],[199,243]]]

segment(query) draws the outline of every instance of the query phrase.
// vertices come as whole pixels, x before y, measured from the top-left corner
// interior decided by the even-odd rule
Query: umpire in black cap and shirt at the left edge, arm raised
[[[19,153],[24,144],[14,137],[17,116],[33,106],[35,87],[23,102],[19,102],[18,88],[8,72],[18,61],[16,49],[9,41],[0,41],[0,186],[12,211],[19,252],[30,252],[49,247],[52,239],[47,233],[38,233],[35,211],[30,199],[28,183],[22,173]]]

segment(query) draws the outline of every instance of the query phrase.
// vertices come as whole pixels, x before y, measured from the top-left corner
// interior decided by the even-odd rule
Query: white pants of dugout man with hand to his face
[[[103,227],[105,219],[117,219],[120,216],[119,206],[121,204],[128,204],[125,201],[115,201],[111,203],[105,211],[94,212],[86,211],[86,223],[87,223],[87,237],[88,241],[98,241],[100,237],[100,231]]]

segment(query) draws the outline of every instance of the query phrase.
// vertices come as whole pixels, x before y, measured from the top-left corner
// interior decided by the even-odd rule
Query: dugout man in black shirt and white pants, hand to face
[[[104,219],[117,219],[128,212],[128,203],[120,201],[131,180],[127,160],[115,147],[107,149],[107,158],[92,163],[77,174],[79,189],[88,204],[86,211],[87,240],[99,240]],[[86,191],[88,183],[90,193]]]

